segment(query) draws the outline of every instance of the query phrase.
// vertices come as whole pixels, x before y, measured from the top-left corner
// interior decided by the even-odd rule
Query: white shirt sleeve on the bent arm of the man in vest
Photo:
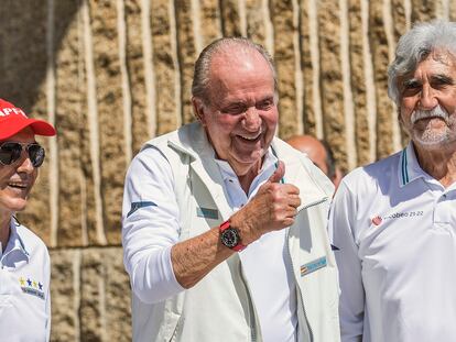
[[[171,247],[178,242],[178,216],[170,163],[159,150],[143,150],[126,177],[122,245],[132,291],[146,304],[184,290],[171,262]]]

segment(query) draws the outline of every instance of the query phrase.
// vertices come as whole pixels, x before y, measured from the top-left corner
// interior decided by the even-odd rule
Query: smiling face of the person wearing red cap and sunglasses
[[[28,128],[9,137],[9,142],[34,143],[35,135]],[[4,141],[1,141],[3,143]],[[29,155],[22,150],[21,157],[11,165],[0,164],[0,214],[10,217],[25,208],[28,196],[37,176]]]

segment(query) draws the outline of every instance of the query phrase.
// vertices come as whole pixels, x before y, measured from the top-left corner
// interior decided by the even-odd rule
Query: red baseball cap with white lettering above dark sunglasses
[[[51,123],[44,120],[29,119],[22,109],[0,99],[0,141],[13,136],[28,126],[36,135],[53,136],[56,134]]]

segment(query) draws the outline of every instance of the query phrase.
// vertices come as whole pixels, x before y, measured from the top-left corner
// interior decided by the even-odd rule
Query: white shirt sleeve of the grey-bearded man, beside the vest
[[[362,340],[365,318],[365,289],[361,261],[356,243],[356,197],[345,183],[340,183],[333,200],[328,231],[339,271],[340,284],[340,333],[343,342]]]

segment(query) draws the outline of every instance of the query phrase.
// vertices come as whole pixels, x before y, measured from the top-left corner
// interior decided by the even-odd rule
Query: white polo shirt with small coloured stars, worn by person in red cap
[[[43,241],[11,220],[4,251],[0,249],[0,341],[48,341],[51,264]]]

